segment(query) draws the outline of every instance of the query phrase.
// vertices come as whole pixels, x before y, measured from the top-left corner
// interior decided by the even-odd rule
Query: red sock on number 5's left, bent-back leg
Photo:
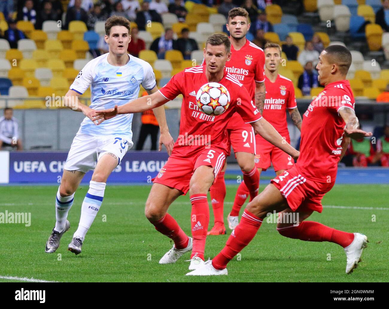
[[[189,238],[171,215],[166,213],[161,220],[151,223],[155,226],[155,229],[158,230],[158,232],[171,238],[177,249],[184,249],[187,247]]]

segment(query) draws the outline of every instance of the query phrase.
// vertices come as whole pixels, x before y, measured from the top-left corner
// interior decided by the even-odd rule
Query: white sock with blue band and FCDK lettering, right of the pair
[[[103,203],[105,185],[105,182],[94,182],[93,180],[89,182],[88,193],[84,198],[84,202],[82,202],[80,223],[73,238],[79,238],[82,242],[84,241],[86,232],[91,227]]]

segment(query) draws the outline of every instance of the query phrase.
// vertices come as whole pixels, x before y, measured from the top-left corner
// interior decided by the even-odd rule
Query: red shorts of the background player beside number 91
[[[255,156],[256,168],[261,168],[263,171],[266,171],[270,167],[270,163],[273,163],[275,171],[289,169],[294,166],[293,158],[286,152],[275,147],[259,134],[256,134],[255,138],[257,147]],[[286,137],[286,141],[290,144],[289,136]]]

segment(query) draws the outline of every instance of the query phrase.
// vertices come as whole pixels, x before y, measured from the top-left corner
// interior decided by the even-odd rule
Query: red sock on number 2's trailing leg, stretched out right
[[[303,221],[298,226],[284,227],[277,230],[285,237],[304,241],[329,241],[343,248],[347,247],[354,240],[353,233],[335,230],[332,227],[313,221]]]

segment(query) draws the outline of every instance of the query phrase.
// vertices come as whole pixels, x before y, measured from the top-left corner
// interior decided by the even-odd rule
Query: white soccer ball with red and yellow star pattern
[[[230,100],[227,88],[216,82],[203,85],[196,94],[198,108],[207,115],[221,115],[227,110]]]

